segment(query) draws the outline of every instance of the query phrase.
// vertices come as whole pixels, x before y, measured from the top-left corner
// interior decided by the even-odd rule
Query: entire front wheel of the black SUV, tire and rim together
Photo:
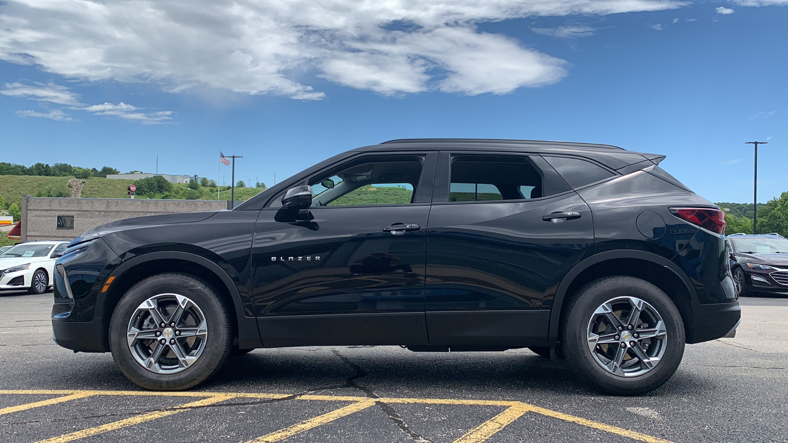
[[[180,390],[203,382],[232,349],[229,308],[206,281],[158,274],[129,289],[110,322],[117,367],[145,389]]]

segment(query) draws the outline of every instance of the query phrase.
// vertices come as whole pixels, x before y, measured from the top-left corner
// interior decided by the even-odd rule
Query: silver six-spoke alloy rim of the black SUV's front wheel
[[[142,367],[174,374],[203,354],[208,326],[203,311],[180,294],[152,296],[139,304],[128,322],[127,343]]]

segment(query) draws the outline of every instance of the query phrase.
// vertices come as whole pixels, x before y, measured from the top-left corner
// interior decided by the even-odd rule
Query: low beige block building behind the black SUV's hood
[[[22,196],[21,240],[72,240],[110,221],[227,209],[216,200],[66,199]]]

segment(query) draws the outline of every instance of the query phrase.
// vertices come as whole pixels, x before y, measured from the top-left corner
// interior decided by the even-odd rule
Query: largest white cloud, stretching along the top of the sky
[[[675,9],[675,0],[6,0],[0,60],[83,81],[322,99],[314,76],[403,94],[502,94],[563,61],[478,24]],[[578,35],[579,36],[579,35]],[[489,54],[486,51],[492,51]],[[485,64],[480,66],[480,64]]]

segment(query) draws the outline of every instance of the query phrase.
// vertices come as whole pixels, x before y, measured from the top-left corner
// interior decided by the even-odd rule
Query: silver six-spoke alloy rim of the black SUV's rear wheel
[[[667,330],[662,316],[645,300],[632,296],[608,300],[589,320],[589,352],[611,374],[635,377],[662,359]]]

